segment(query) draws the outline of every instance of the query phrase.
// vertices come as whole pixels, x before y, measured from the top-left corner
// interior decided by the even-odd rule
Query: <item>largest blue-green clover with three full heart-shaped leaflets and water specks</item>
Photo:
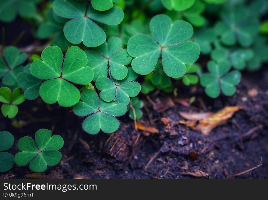
[[[178,78],[185,74],[185,64],[194,63],[200,54],[198,44],[185,41],[192,36],[191,24],[178,20],[172,23],[166,15],[154,16],[150,21],[154,39],[147,35],[135,35],[129,39],[127,51],[132,60],[133,70],[141,75],[152,72],[162,52],[164,72]]]

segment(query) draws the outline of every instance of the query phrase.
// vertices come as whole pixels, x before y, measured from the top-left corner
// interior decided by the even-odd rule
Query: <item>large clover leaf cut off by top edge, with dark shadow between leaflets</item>
[[[54,12],[69,20],[63,29],[66,39],[72,44],[83,44],[87,47],[97,47],[104,43],[106,35],[95,22],[108,25],[118,25],[124,18],[121,8],[115,6],[108,11],[97,12],[90,5],[86,10],[88,1],[55,0]]]

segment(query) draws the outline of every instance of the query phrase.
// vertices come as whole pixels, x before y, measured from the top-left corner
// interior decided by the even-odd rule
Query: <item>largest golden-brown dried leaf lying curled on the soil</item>
[[[226,106],[217,113],[210,115],[208,118],[199,120],[196,129],[201,131],[204,135],[208,135],[213,128],[224,123],[227,119],[231,118],[236,111],[243,108],[244,107],[239,106]]]

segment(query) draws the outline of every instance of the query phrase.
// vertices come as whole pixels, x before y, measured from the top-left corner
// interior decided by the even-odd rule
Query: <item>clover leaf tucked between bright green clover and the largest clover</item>
[[[101,46],[93,48],[93,51],[85,51],[87,65],[92,66],[94,72],[93,81],[98,77],[107,76],[108,69],[116,80],[122,80],[128,73],[128,65],[131,57],[125,49],[122,49],[122,41],[118,37],[111,37]],[[108,67],[108,69],[107,69]]]

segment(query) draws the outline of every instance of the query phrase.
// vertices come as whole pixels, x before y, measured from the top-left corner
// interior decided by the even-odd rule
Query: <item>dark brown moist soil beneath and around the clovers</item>
[[[26,40],[28,44],[33,43],[28,37]],[[18,152],[19,138],[34,138],[38,129],[47,128],[65,141],[62,161],[44,173],[33,173],[28,166],[14,164],[0,178],[196,178],[195,174],[198,178],[268,178],[267,85],[266,65],[258,72],[243,72],[237,93],[231,97],[211,99],[202,87],[182,84],[176,97],[157,91],[149,94],[148,101],[149,98],[140,94],[146,108],[138,122],[156,128],[159,133],[136,131],[134,122],[125,115],[119,118],[120,128],[115,133],[89,135],[81,128],[83,118],[75,116],[71,108],[45,104],[40,97],[26,100],[19,105],[15,118],[0,115],[0,130],[9,131],[15,137],[9,152],[13,155]],[[189,107],[175,101],[191,97],[196,100]],[[166,105],[163,102],[167,100],[175,103],[162,112],[153,109],[153,103]],[[234,113],[209,135],[178,123],[183,119],[179,111],[217,112],[225,106],[245,109]],[[168,125],[161,121],[163,117],[169,119]],[[261,156],[262,166],[232,176],[258,165]]]

